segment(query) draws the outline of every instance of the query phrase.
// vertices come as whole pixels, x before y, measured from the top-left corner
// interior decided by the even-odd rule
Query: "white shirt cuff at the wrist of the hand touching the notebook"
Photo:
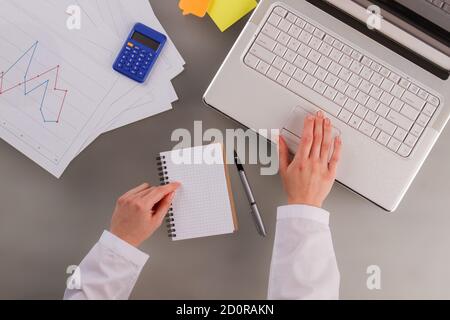
[[[149,258],[144,252],[106,230],[103,232],[99,243],[138,267],[144,266]]]

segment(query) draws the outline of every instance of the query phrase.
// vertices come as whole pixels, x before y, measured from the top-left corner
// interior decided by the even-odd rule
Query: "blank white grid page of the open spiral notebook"
[[[210,147],[223,159],[222,145]],[[185,150],[198,154],[204,147]],[[165,157],[167,180],[182,184],[172,206],[176,230],[173,240],[233,233],[233,212],[224,164],[178,164],[172,161],[172,152],[161,153],[161,156]]]

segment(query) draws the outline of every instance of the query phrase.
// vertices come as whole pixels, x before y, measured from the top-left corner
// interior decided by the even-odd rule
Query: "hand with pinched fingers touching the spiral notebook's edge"
[[[117,200],[111,233],[139,247],[164,222],[179,183],[151,187],[144,183]]]

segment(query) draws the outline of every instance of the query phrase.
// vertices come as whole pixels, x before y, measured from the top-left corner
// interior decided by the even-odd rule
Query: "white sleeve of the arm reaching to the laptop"
[[[269,299],[338,299],[339,270],[325,210],[278,208]]]

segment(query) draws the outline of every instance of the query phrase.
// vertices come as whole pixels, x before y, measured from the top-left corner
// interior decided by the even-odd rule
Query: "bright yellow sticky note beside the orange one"
[[[256,6],[256,0],[213,0],[208,14],[224,32]]]

